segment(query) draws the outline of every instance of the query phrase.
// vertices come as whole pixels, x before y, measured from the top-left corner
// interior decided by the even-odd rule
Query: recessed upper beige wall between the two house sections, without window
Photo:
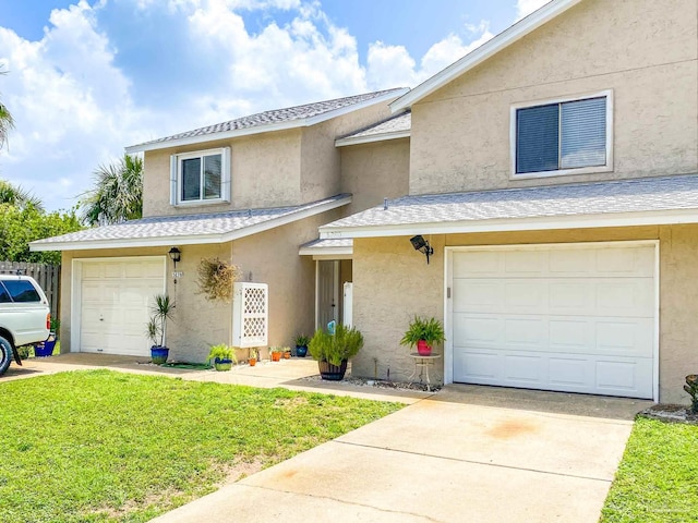
[[[341,192],[353,195],[349,215],[409,191],[410,138],[340,147]]]

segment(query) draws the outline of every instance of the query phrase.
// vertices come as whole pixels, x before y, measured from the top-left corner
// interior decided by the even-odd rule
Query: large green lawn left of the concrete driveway
[[[147,521],[402,406],[109,370],[0,398],[0,521],[34,523]]]

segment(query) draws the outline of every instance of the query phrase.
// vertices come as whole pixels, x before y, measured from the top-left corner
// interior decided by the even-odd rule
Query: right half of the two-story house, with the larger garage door
[[[417,314],[445,324],[445,382],[687,401],[697,11],[554,0],[392,104],[409,194],[321,228],[353,240],[354,374],[410,374]]]

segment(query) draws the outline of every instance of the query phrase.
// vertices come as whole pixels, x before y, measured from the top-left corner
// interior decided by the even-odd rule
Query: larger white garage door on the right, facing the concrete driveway
[[[454,381],[652,398],[654,248],[455,251]]]

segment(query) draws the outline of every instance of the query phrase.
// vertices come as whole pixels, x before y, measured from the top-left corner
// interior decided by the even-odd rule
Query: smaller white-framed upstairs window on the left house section
[[[172,155],[172,205],[230,202],[230,149]]]

